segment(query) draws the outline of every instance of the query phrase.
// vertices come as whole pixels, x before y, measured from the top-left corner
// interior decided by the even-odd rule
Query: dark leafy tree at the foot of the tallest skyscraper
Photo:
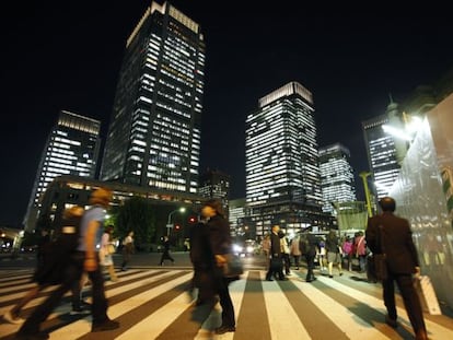
[[[155,225],[155,207],[146,198],[135,196],[118,209],[115,225],[117,234],[125,237],[129,231],[133,231],[133,243],[138,249],[150,244]]]

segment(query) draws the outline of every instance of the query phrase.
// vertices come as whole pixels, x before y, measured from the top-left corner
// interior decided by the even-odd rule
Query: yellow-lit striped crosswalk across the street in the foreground
[[[381,289],[346,272],[330,279],[318,275],[312,283],[305,272],[293,271],[289,281],[266,281],[265,271],[251,269],[230,285],[236,314],[236,331],[214,336],[220,324],[219,305],[196,307],[187,293],[191,270],[148,268],[119,272],[118,282],[106,282],[111,318],[120,328],[91,333],[91,316],[72,316],[70,296],[43,324],[50,339],[414,339],[400,298],[399,327],[384,323]],[[0,272],[0,314],[8,312],[33,286],[31,271]],[[51,288],[43,291],[23,310],[26,317]],[[85,293],[89,295],[89,291]],[[446,315],[426,315],[429,337],[453,339],[453,319]],[[0,324],[0,339],[13,339],[18,325]]]

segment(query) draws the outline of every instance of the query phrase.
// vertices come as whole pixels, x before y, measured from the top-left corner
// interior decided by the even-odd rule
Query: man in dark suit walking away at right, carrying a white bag
[[[386,254],[388,278],[382,282],[384,304],[387,308],[385,321],[391,327],[397,327],[394,286],[396,281],[416,339],[428,339],[420,300],[414,288],[413,274],[419,274],[420,268],[409,222],[394,215],[396,203],[393,198],[384,197],[379,204],[382,214],[368,220],[365,237],[371,251]],[[379,237],[381,249],[376,244]]]

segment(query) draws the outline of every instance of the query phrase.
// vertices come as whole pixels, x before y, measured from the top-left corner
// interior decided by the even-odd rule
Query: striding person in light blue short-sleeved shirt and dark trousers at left
[[[101,272],[100,257],[96,251],[96,245],[101,242],[98,231],[102,227],[105,219],[104,211],[108,208],[111,199],[112,192],[109,190],[98,188],[92,192],[89,201],[91,208],[83,213],[80,224],[77,251],[65,270],[62,283],[34,309],[19,329],[15,339],[48,339],[48,333],[39,331],[40,324],[47,319],[65,293],[71,290],[76,282],[80,282],[83,270],[88,272],[92,283],[91,331],[104,331],[119,327],[119,323],[111,320],[107,316],[104,279]]]

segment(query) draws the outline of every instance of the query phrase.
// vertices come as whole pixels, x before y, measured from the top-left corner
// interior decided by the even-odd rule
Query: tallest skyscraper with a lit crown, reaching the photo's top
[[[197,192],[205,42],[169,2],[152,2],[119,73],[101,179]]]

